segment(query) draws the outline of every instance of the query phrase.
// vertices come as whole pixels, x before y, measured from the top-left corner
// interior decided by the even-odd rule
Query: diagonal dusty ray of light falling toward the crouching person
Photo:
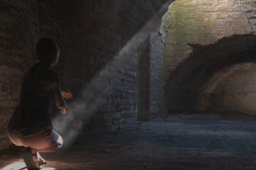
[[[171,2],[173,0],[167,1],[156,15],[122,47],[113,60],[107,63],[106,67],[85,86],[80,96],[69,103],[68,112],[53,120],[54,129],[63,135],[64,146],[68,147],[75,140],[82,131],[82,126],[107,101],[107,98],[115,90],[112,88],[112,83],[118,82],[119,74],[129,70],[132,65],[137,65],[138,47],[142,46],[149,34],[159,26],[161,17],[167,11]],[[136,72],[133,74],[134,77],[137,77]]]

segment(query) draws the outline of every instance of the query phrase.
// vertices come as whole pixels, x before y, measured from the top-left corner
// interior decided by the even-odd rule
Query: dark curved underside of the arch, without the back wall
[[[256,37],[253,35],[235,35],[215,44],[191,47],[191,56],[179,65],[164,86],[167,114],[202,110],[198,108],[201,88],[216,72],[233,64],[256,61]]]

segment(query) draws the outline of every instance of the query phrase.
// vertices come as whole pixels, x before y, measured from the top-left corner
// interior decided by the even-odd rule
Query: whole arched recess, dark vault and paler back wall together
[[[235,35],[215,44],[191,47],[191,56],[164,86],[167,114],[206,110],[256,113],[252,106],[256,101],[252,63],[256,62],[255,36]]]

